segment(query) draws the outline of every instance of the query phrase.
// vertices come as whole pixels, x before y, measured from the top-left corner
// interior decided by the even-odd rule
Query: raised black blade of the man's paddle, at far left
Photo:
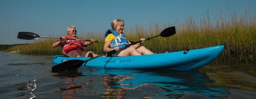
[[[34,40],[39,38],[38,34],[32,32],[19,32],[17,38],[24,39],[24,40]]]

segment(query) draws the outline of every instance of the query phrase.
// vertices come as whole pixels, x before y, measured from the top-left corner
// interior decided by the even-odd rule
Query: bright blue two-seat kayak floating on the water
[[[211,63],[214,59],[219,57],[223,50],[224,45],[217,45],[208,48],[161,54],[127,57],[98,57],[84,63],[81,67],[193,71]],[[52,62],[54,65],[57,65],[67,60],[86,60],[89,58],[90,57],[64,57],[63,55],[54,55]]]

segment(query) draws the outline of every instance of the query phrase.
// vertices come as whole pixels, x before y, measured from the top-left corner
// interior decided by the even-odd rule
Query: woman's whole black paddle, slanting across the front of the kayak
[[[172,35],[174,35],[176,33],[175,31],[175,27],[169,27],[169,28],[166,28],[164,29],[159,35],[157,36],[154,36],[154,37],[148,37],[146,40],[150,40],[150,39],[153,39],[155,37],[170,37]],[[128,46],[131,46],[131,45],[134,45],[134,44],[137,44],[139,42],[142,42],[142,41],[138,41],[138,42],[133,42],[129,45],[126,45],[125,47],[128,47]],[[61,62],[57,65],[54,65],[52,66],[52,72],[59,72],[59,71],[70,71],[70,70],[76,70],[78,69],[79,67],[81,67],[81,65],[84,64],[84,62],[88,62],[92,59],[95,59],[95,58],[98,58],[98,57],[101,57],[103,55],[106,55],[108,53],[113,53],[115,50],[112,50],[112,51],[108,51],[108,52],[105,52],[103,54],[100,54],[98,55],[97,57],[92,57],[90,59],[87,59],[87,60],[79,60],[79,59],[73,59],[73,60],[68,60],[68,61],[65,61],[65,62]]]

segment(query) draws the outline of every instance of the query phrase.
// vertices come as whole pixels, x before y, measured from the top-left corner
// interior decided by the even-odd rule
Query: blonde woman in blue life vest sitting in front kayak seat
[[[124,25],[125,22],[122,19],[115,19],[112,21],[112,28],[108,29],[104,36],[105,45],[103,49],[105,52],[115,50],[117,56],[154,54],[144,46],[140,46],[140,43],[125,48],[125,45],[131,44],[131,42],[127,40],[123,34]],[[141,38],[140,40],[145,41],[144,38]]]

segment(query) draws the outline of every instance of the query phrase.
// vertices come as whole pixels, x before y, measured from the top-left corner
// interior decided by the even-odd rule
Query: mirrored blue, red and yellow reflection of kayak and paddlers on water
[[[129,69],[81,68],[75,72],[54,73],[64,81],[61,93],[63,99],[74,99],[82,93],[102,98],[124,99],[159,97],[178,99],[185,94],[199,94],[206,97],[225,98],[227,89],[205,86],[212,82],[199,72],[149,71]],[[76,81],[75,81],[76,80]],[[99,97],[98,97],[99,98]]]

